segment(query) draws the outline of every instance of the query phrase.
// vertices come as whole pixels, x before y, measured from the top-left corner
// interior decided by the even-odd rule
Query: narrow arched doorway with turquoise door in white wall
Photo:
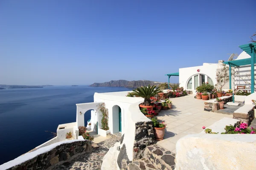
[[[118,105],[114,105],[113,111],[113,133],[122,132],[122,110]]]

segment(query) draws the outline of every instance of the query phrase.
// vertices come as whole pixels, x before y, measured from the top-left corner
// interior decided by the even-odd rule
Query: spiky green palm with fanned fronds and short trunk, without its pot
[[[134,91],[133,94],[136,96],[143,97],[144,105],[149,106],[149,105],[151,105],[150,97],[153,97],[161,92],[160,88],[159,87],[156,88],[156,87],[157,87],[156,85],[153,85],[153,86],[148,85],[148,87],[147,86],[140,87],[140,88],[133,90]]]

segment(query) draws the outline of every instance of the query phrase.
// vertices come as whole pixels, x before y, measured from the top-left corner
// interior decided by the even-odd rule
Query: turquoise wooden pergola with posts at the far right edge
[[[242,65],[251,65],[251,93],[254,93],[254,64],[256,64],[256,42],[239,46],[243,51],[250,55],[251,58],[237,59],[233,61],[223,62],[229,65],[229,78],[231,89],[231,67],[239,67]]]

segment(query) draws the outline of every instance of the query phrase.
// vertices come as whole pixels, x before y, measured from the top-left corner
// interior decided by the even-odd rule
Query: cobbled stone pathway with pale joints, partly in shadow
[[[100,170],[102,159],[108,152],[110,147],[113,147],[116,142],[120,142],[120,137],[111,135],[105,141],[97,143],[99,147],[93,147],[92,153],[83,153],[72,159],[57,165],[53,170]]]

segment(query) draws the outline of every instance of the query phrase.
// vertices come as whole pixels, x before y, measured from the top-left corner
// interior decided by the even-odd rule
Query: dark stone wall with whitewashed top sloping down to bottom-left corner
[[[92,142],[88,140],[83,140],[83,141],[62,143],[60,145],[57,145],[54,148],[51,148],[51,150],[47,150],[46,152],[43,152],[43,153],[41,152],[38,155],[35,154],[40,151],[43,151],[44,149],[45,148],[43,147],[34,152],[26,153],[25,155],[20,156],[22,157],[21,159],[23,159],[23,157],[32,157],[32,155],[35,155],[33,158],[26,160],[16,166],[9,167],[8,169],[6,167],[8,167],[10,162],[7,162],[6,163],[7,166],[3,164],[5,165],[3,169],[7,169],[7,170],[35,170],[35,169],[46,170],[47,168],[50,169],[54,165],[64,162],[76,154],[84,153],[84,152],[90,153],[92,151]],[[20,157],[18,157],[17,159],[19,159]],[[14,159],[13,164],[15,163],[17,162]],[[0,167],[0,169],[1,168],[2,167]]]

